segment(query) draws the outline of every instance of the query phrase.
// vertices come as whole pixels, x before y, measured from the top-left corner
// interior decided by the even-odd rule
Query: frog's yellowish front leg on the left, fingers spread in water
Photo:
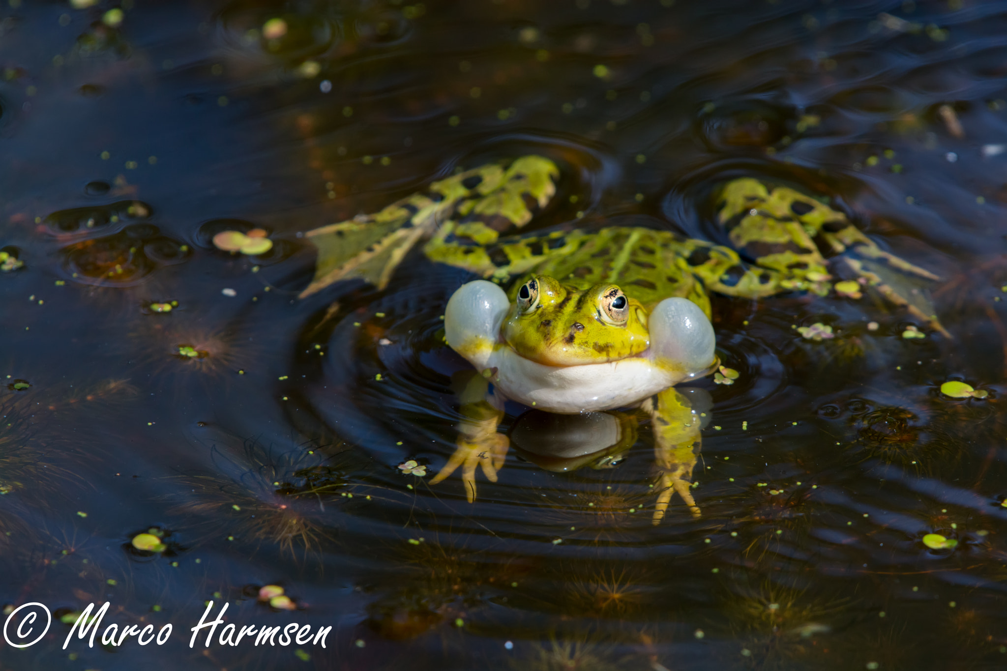
[[[511,442],[497,433],[503,410],[496,398],[488,393],[488,382],[475,371],[466,371],[468,379],[459,379],[462,420],[458,424],[457,448],[447,464],[430,481],[431,485],[445,480],[461,467],[468,502],[475,501],[475,469],[482,468],[489,482],[496,482],[496,471],[503,467]]]

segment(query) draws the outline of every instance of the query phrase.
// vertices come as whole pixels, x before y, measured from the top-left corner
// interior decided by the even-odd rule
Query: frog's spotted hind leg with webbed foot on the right
[[[729,182],[721,200],[718,219],[728,228],[731,243],[760,268],[776,273],[765,283],[776,291],[825,296],[833,274],[850,277],[949,335],[925,292],[926,285],[940,278],[882,250],[843,212],[792,188],[770,191],[752,178]]]

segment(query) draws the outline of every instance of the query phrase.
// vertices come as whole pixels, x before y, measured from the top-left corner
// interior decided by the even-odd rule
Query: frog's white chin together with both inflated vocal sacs
[[[694,303],[665,299],[649,320],[651,347],[638,356],[578,366],[547,366],[500,341],[511,309],[503,290],[483,280],[463,285],[444,314],[448,345],[492,373],[508,398],[550,412],[587,412],[633,405],[709,372],[714,361],[710,320]]]

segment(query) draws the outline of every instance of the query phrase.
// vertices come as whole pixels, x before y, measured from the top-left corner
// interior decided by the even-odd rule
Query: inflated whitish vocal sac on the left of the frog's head
[[[444,311],[444,335],[454,351],[482,368],[499,337],[500,325],[511,309],[503,290],[476,280],[451,295]]]

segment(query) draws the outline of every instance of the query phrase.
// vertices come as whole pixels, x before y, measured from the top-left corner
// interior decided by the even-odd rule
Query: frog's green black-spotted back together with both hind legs
[[[839,275],[874,287],[948,335],[926,298],[925,285],[937,276],[883,251],[843,212],[750,177],[720,192],[718,220],[734,248],[642,227],[501,236],[548,204],[558,176],[548,158],[523,156],[434,182],[375,214],[309,231],[318,265],[301,296],[350,278],[383,289],[406,254],[426,239],[431,261],[498,283],[531,272],[578,288],[610,282],[645,306],[681,296],[708,315],[708,290],[751,299],[795,290],[826,296]]]

